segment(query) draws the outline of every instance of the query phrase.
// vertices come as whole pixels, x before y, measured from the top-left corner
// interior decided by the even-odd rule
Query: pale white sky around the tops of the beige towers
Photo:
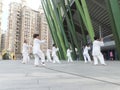
[[[9,16],[9,4],[11,2],[21,3],[21,0],[2,0],[3,1],[3,14],[2,14],[2,30],[6,31],[8,26],[8,16]],[[34,10],[37,10],[40,5],[40,0],[26,0],[27,6]]]

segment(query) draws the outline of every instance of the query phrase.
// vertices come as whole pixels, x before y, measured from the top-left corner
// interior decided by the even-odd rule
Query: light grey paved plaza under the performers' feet
[[[120,90],[120,62],[94,66],[83,61],[46,63],[0,60],[0,90]]]

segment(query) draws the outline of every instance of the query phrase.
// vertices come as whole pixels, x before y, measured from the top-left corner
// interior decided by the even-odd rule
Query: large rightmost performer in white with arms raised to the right
[[[100,63],[102,65],[106,65],[105,61],[104,61],[103,54],[101,53],[101,49],[100,49],[101,46],[104,46],[103,39],[101,38],[99,40],[98,37],[94,37],[93,50],[92,50],[92,56],[93,56],[93,59],[94,59],[94,65],[98,64],[98,59],[99,59],[99,61],[100,61]]]

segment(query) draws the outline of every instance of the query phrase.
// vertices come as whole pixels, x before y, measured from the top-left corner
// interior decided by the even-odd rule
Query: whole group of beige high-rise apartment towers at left
[[[26,6],[26,0],[22,0],[22,4],[11,3],[9,11],[5,49],[16,54],[21,53],[24,40],[27,40],[29,45],[33,44],[33,34],[39,34],[41,39],[46,40],[46,43],[41,45],[44,52],[47,48],[52,48],[52,37],[42,8],[39,11],[32,10]]]

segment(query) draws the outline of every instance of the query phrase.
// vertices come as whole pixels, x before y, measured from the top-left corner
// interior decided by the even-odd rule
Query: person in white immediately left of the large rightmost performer
[[[88,44],[86,44],[84,46],[84,49],[83,49],[83,57],[84,57],[85,63],[91,62],[91,58],[90,58],[90,55],[88,53],[88,50],[90,50],[90,46]]]

